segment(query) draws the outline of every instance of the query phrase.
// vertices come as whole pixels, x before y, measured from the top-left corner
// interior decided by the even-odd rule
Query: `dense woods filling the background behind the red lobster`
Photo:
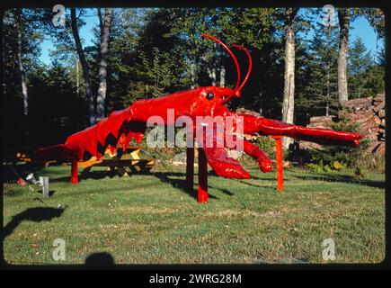
[[[243,96],[228,105],[306,125],[336,115],[340,103],[384,92],[385,51],[371,53],[351,23],[366,18],[378,39],[384,14],[375,8],[322,9],[101,8],[66,9],[55,26],[51,9],[10,9],[3,17],[4,149],[63,142],[139,98],[197,85],[235,85],[227,53],[209,33],[249,49],[253,73]],[[85,41],[85,25],[96,18]],[[51,39],[50,61],[40,61]],[[235,51],[246,70],[244,53]],[[9,125],[9,123],[13,123]]]

